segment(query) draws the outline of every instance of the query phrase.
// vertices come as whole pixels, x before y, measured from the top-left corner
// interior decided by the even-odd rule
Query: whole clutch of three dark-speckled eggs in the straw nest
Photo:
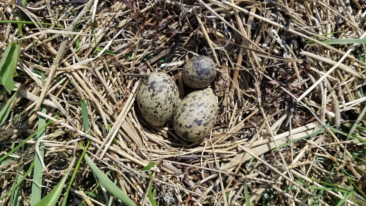
[[[191,88],[203,88],[214,80],[215,69],[212,59],[196,56],[184,65],[182,78]],[[178,104],[178,87],[163,72],[147,74],[140,80],[136,101],[142,117],[151,125],[164,125],[173,116],[176,134],[187,141],[203,140],[217,116],[216,95],[211,88],[191,92]]]

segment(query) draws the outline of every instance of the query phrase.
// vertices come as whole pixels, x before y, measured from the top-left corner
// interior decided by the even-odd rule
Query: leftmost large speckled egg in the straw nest
[[[177,85],[163,72],[147,74],[141,79],[136,91],[136,101],[142,117],[154,126],[161,126],[172,117],[178,100]]]

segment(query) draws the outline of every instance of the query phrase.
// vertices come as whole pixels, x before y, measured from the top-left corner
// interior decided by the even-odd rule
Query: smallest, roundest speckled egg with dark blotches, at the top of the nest
[[[203,88],[216,77],[216,66],[208,56],[195,56],[183,67],[183,82],[191,88]]]

